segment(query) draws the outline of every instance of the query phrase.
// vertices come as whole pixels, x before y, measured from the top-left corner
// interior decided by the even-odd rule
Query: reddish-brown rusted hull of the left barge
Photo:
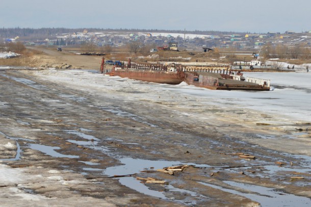
[[[164,70],[136,70],[136,69],[118,69],[112,71],[112,75],[128,77],[139,81],[154,82],[160,84],[180,84],[185,79],[185,72],[167,72]]]

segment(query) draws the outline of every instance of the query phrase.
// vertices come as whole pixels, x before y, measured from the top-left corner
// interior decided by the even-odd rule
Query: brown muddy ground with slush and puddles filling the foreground
[[[60,79],[65,74],[55,72]],[[273,197],[242,184],[274,189],[284,205],[294,206],[290,196],[299,196],[293,199],[298,204],[310,204],[310,134],[299,146],[290,139],[279,144],[256,137],[306,131],[309,123],[272,126],[266,123],[276,117],[262,114],[258,120],[254,113],[224,113],[217,107],[207,107],[205,119],[198,119],[178,105],[168,107],[171,103],[160,96],[158,101],[126,99],[135,90],[100,93],[103,89],[48,80],[50,75],[49,69],[0,71],[2,205],[259,206],[258,199],[247,195]],[[73,82],[83,79],[71,75]],[[98,75],[89,81],[103,80]],[[124,163],[129,166],[134,165],[131,159],[141,161],[143,169],[105,173],[122,165],[122,159],[129,159]],[[154,161],[163,161],[163,167],[192,166],[171,175],[156,171]],[[275,172],[278,168],[284,170]],[[132,185],[147,187],[139,191],[128,184],[137,177],[166,184],[141,180]]]

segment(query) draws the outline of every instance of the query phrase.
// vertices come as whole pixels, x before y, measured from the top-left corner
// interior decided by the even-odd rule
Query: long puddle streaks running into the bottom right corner
[[[202,185],[209,186],[212,188],[220,189],[222,191],[241,195],[243,197],[249,198],[251,200],[257,201],[261,203],[262,206],[271,206],[271,207],[277,207],[277,206],[310,206],[311,205],[311,199],[307,197],[302,196],[296,196],[293,194],[283,193],[281,191],[277,191],[277,189],[273,188],[266,188],[262,186],[255,186],[255,185],[249,185],[249,184],[242,184],[232,181],[224,181],[224,183],[239,187],[245,190],[252,191],[253,193],[242,193],[236,190],[226,189],[222,188],[216,185],[207,184],[203,182],[198,182]]]

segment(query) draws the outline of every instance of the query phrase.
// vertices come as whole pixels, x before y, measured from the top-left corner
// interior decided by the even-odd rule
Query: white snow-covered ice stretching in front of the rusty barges
[[[149,99],[150,101],[161,100],[172,101],[174,96],[180,108],[185,111],[191,109],[192,97],[200,107],[217,106],[220,108],[231,108],[235,110],[249,109],[260,113],[274,114],[280,119],[290,119],[296,122],[311,122],[311,72],[304,73],[254,73],[245,72],[244,76],[258,77],[271,80],[271,90],[262,92],[253,91],[217,91],[188,86],[186,83],[179,85],[166,85],[146,83],[130,79],[122,79],[118,76],[102,76],[96,72],[85,70],[57,71],[51,69],[48,72],[49,81],[60,81],[73,87],[83,86],[87,88],[98,88],[106,95],[111,91],[126,89],[131,92],[130,96],[124,96],[129,101]],[[72,75],[74,73],[74,75]],[[38,73],[40,75],[40,73]],[[55,75],[51,75],[55,74]],[[46,74],[44,74],[45,76]],[[42,76],[44,78],[44,76]],[[73,79],[78,79],[72,81]],[[81,79],[81,80],[79,80]],[[146,93],[146,92],[152,93]]]

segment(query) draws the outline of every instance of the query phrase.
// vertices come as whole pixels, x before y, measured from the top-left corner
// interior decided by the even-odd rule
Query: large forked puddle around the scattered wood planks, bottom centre
[[[151,160],[142,160],[142,159],[133,159],[133,158],[121,158],[119,160],[124,165],[109,167],[106,170],[103,170],[103,174],[106,174],[108,176],[126,175],[126,174],[140,173],[140,171],[142,170],[156,170],[156,169],[162,169],[164,167],[186,165],[186,164],[195,165],[196,167],[210,167],[209,165],[197,165],[194,163],[183,163],[183,162],[175,162],[175,161],[161,161],[161,160],[151,161]],[[164,192],[159,192],[159,191],[149,189],[146,185],[140,183],[140,180],[137,180],[135,177],[120,177],[116,179],[119,179],[120,184],[128,188],[134,189],[140,193],[162,198],[162,199],[170,199],[165,196]],[[204,197],[202,195],[198,195],[191,191],[174,188],[171,185],[165,185],[164,187],[168,191],[190,194],[191,196],[194,196],[195,199]],[[198,200],[196,201],[178,200],[178,202],[182,202],[186,205],[193,205],[196,202],[198,202]]]

